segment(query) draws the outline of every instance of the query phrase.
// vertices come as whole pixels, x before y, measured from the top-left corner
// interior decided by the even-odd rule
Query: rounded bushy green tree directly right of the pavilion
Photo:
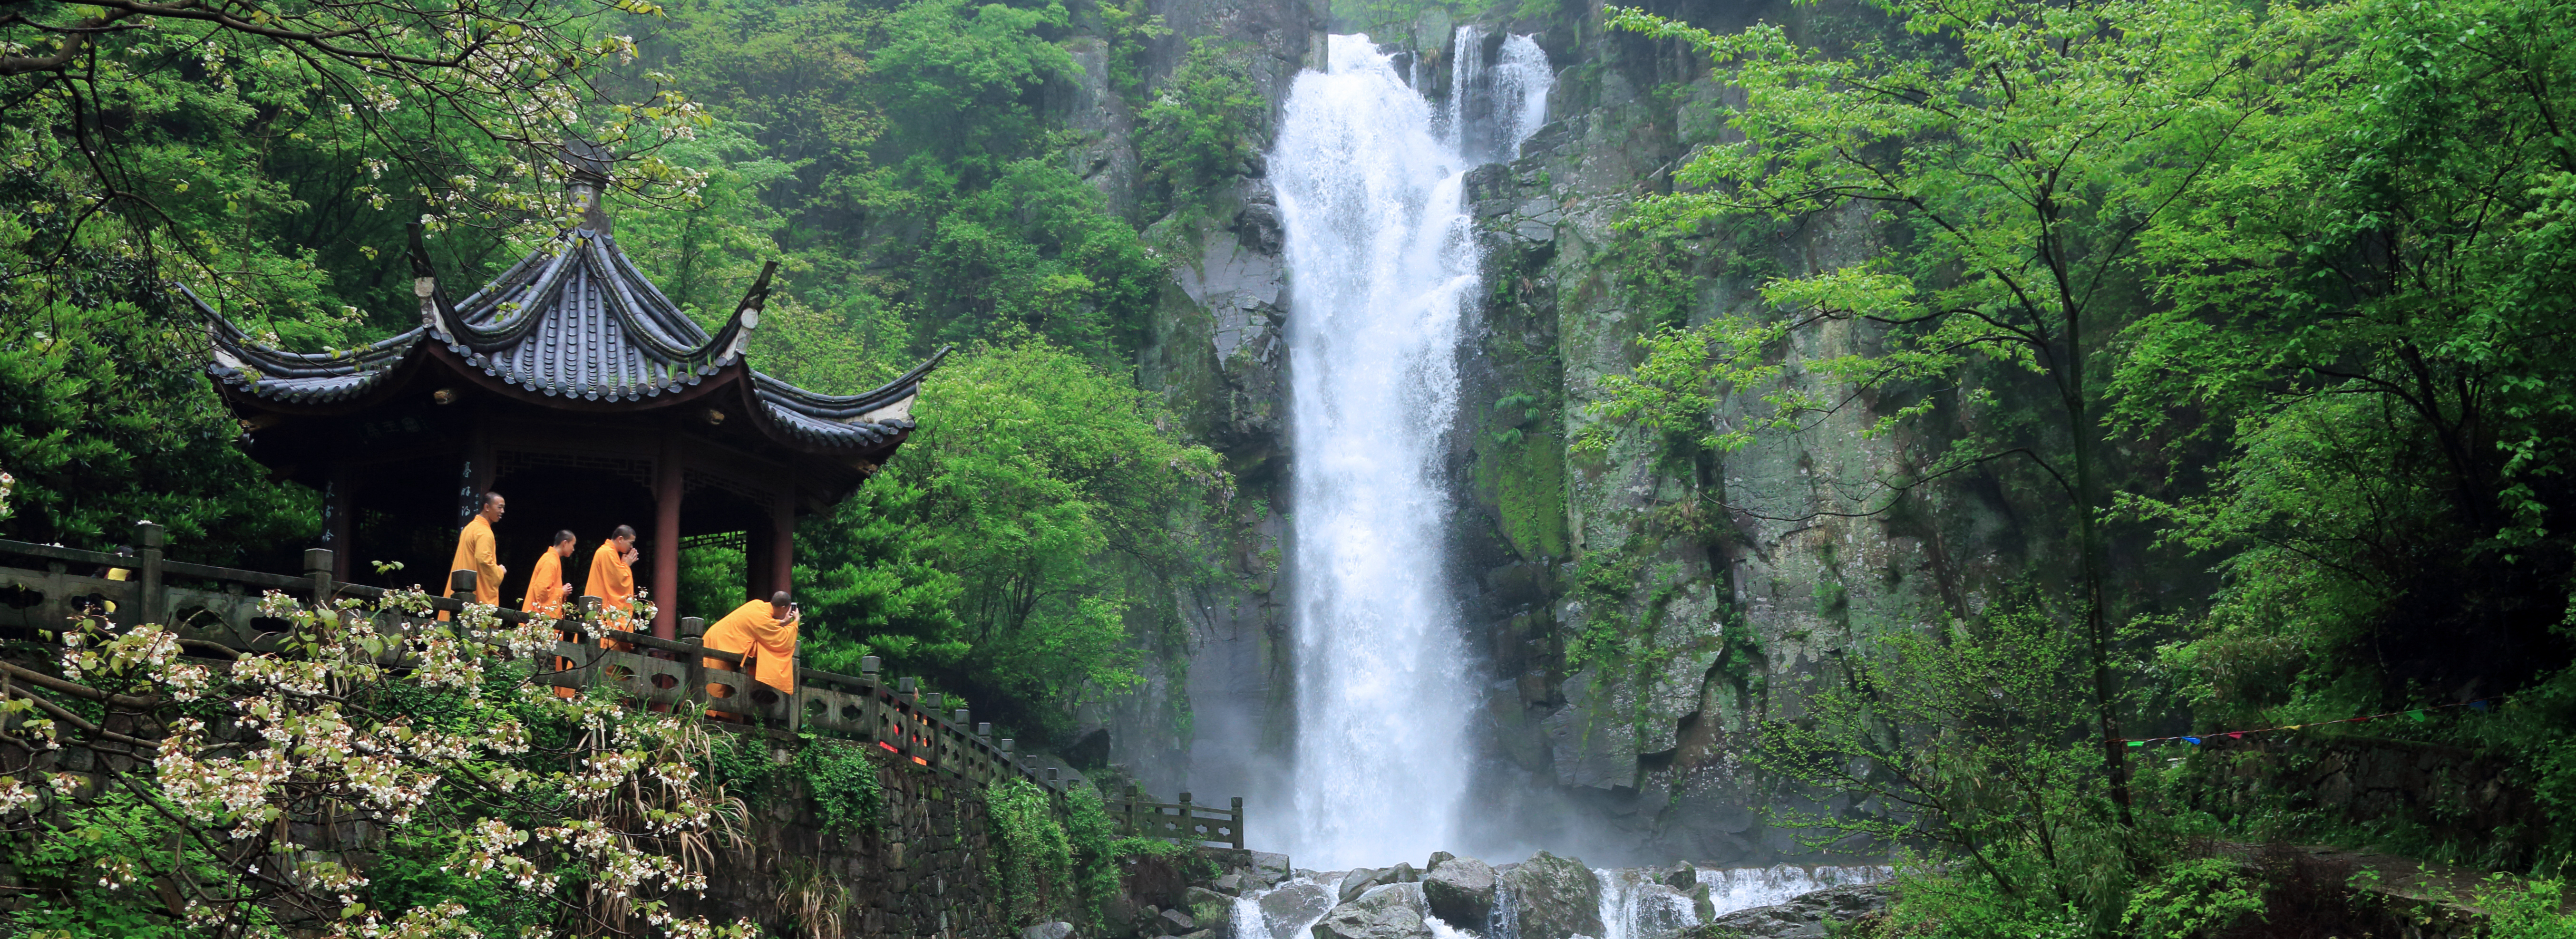
[[[1126,376],[1041,340],[961,352],[922,386],[920,422],[799,545],[819,630],[1033,728],[1133,684],[1180,625],[1177,589],[1208,571],[1188,533],[1226,497],[1216,455]]]

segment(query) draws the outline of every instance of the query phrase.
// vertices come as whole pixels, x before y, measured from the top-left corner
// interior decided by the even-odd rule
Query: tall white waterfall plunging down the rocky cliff
[[[1458,31],[1458,95],[1435,111],[1368,36],[1332,36],[1329,72],[1298,75],[1270,157],[1293,283],[1298,682],[1293,818],[1273,834],[1306,864],[1448,849],[1468,785],[1479,677],[1445,571],[1440,473],[1461,319],[1479,291],[1461,183],[1476,162],[1510,160],[1538,123],[1528,75],[1510,103],[1466,98],[1497,87],[1481,49]],[[1499,59],[1512,57],[1507,44]],[[1535,75],[1543,100],[1543,54]]]

